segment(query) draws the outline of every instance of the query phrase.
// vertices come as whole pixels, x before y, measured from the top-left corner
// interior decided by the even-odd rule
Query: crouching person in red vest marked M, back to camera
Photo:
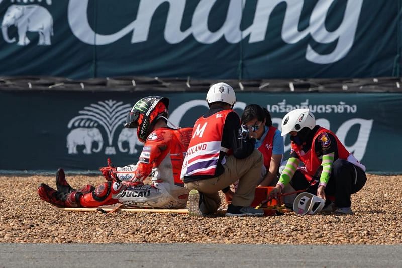
[[[239,185],[226,216],[264,214],[250,206],[260,178],[262,155],[254,149],[255,137],[243,138],[240,118],[232,110],[235,102],[230,85],[214,84],[207,94],[210,109],[195,122],[181,171],[185,186],[191,190],[190,216],[216,212],[221,204],[218,192],[230,191],[229,186],[237,180]]]

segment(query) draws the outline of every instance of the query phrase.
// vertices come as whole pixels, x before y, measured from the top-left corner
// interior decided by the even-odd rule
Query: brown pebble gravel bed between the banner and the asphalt
[[[101,177],[68,176],[72,186]],[[63,212],[39,199],[54,176],[0,176],[1,243],[401,244],[402,176],[368,175],[355,215],[197,218],[170,213]]]

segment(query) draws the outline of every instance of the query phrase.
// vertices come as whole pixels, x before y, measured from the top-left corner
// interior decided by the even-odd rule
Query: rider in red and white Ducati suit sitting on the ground
[[[100,168],[107,182],[97,187],[87,185],[73,189],[64,170],[56,175],[57,190],[42,183],[40,198],[58,207],[97,207],[122,203],[140,208],[184,208],[188,190],[180,180],[184,154],[192,128],[167,126],[169,99],[149,96],[138,101],[128,114],[125,127],[137,128],[138,140],[144,144],[137,165]],[[143,181],[151,175],[151,183]]]

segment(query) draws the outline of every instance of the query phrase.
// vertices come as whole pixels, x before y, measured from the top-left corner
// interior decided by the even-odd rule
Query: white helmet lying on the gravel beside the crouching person
[[[325,200],[311,193],[300,193],[293,202],[293,211],[296,214],[316,214],[325,205]]]

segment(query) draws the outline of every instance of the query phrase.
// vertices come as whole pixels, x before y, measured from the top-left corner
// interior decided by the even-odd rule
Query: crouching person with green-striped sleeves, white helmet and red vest
[[[338,214],[353,214],[350,196],[366,183],[362,165],[338,137],[316,124],[309,109],[296,109],[282,120],[282,136],[290,134],[291,151],[286,167],[271,196],[281,193],[290,183],[295,190],[304,190],[326,199],[335,198],[322,210]],[[302,162],[304,167],[298,167]]]

